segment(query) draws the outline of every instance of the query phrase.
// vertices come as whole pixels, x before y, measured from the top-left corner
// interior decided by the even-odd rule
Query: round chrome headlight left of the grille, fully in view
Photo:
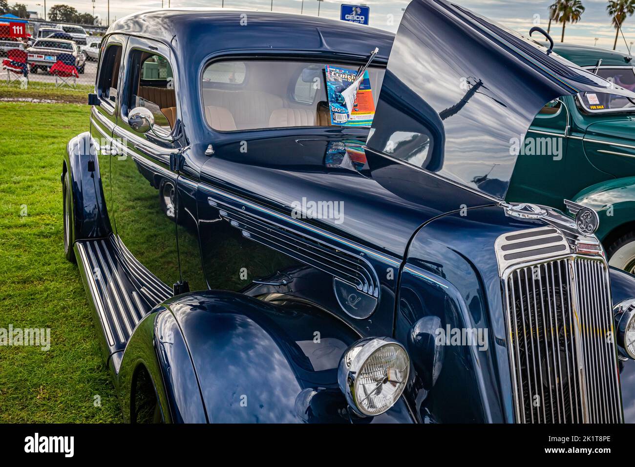
[[[389,337],[367,337],[342,356],[337,381],[356,414],[375,416],[390,409],[403,393],[410,374],[410,358]]]

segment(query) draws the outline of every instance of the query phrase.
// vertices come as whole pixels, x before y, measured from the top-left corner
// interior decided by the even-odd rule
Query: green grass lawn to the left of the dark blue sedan
[[[24,92],[39,85],[18,91],[79,94]],[[4,91],[0,86],[0,97]],[[0,102],[0,328],[51,328],[49,351],[0,346],[2,423],[122,421],[81,278],[65,260],[62,240],[62,157],[67,141],[88,130],[89,112],[88,105]]]

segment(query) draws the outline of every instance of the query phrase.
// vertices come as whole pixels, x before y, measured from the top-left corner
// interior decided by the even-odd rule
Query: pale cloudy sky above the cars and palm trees
[[[20,1],[20,0],[18,0]],[[271,0],[169,0],[170,6],[197,6],[197,7],[220,7],[224,1],[225,8],[241,8],[246,10],[269,10]],[[13,3],[10,0],[10,3]],[[38,11],[42,14],[42,0],[23,1],[29,10]],[[90,0],[48,0],[46,7],[50,8],[54,4],[65,3],[74,6],[80,12],[92,13],[93,4]],[[320,16],[329,18],[339,18],[341,1],[324,0],[320,2]],[[354,3],[356,1],[346,1],[344,3]],[[363,0],[361,4],[370,6],[370,24],[376,27],[397,30],[401,20],[402,8],[406,8],[409,0]],[[457,0],[466,8],[474,10],[488,18],[496,20],[507,27],[527,32],[535,22],[540,21],[545,29],[549,21],[548,7],[553,0]],[[582,21],[578,24],[566,27],[565,41],[590,44],[595,43],[598,37],[598,46],[613,48],[615,40],[615,29],[611,25],[610,17],[606,14],[607,0],[582,0],[586,11],[582,15]],[[303,6],[304,4],[304,6]],[[164,0],[163,6],[168,7],[168,0]],[[121,18],[136,11],[149,8],[161,8],[161,0],[110,0],[110,21]],[[274,11],[284,11],[287,13],[300,13],[304,8],[305,15],[318,14],[317,0],[273,0]],[[95,14],[99,15],[106,24],[107,0],[95,0]],[[554,24],[551,34],[554,40],[559,41],[562,32],[560,24]],[[624,34],[627,41],[635,41],[635,17],[628,18],[624,24]],[[625,51],[624,40],[620,37],[618,48]]]

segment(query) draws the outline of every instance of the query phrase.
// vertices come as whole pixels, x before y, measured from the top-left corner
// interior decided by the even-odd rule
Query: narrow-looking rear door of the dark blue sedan
[[[112,132],[117,125],[117,90],[119,88],[121,60],[126,47],[126,36],[113,34],[104,41],[99,60],[97,76],[98,105],[93,105],[90,118],[90,132],[97,152],[98,173],[110,216],[114,213],[110,191],[110,159]],[[110,219],[112,221],[112,217]],[[114,227],[114,226],[113,226]]]

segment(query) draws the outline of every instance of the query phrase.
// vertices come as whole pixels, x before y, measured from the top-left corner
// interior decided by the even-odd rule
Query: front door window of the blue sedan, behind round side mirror
[[[152,112],[154,125],[169,132],[177,118],[177,98],[170,62],[145,50],[131,51],[128,60],[131,73],[127,108],[145,107]]]

